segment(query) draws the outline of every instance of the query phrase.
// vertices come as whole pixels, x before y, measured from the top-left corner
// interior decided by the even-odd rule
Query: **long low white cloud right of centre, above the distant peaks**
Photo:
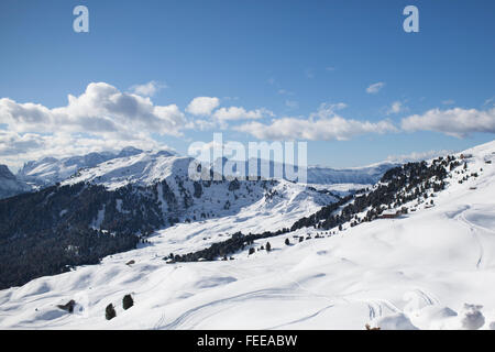
[[[397,129],[387,120],[378,122],[346,120],[336,113],[336,110],[343,109],[344,107],[344,103],[323,103],[317,112],[310,114],[309,119],[282,118],[273,120],[271,124],[263,124],[255,121],[234,129],[250,133],[260,140],[271,141],[343,141],[365,133],[397,131]]]

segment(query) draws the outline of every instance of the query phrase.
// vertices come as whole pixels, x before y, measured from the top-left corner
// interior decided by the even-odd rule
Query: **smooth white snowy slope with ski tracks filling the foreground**
[[[495,142],[464,154],[473,154],[466,173],[479,176],[460,184],[465,174],[454,170],[432,208],[419,205],[337,234],[298,230],[254,244],[270,241],[271,253],[249,256],[245,249],[227,262],[166,264],[163,257],[220,234],[289,226],[296,219],[282,212],[288,205],[175,226],[100,265],[0,292],[0,328],[495,329]],[[301,243],[293,238],[308,233]],[[124,311],[127,294],[134,307]],[[70,299],[76,314],[56,308]],[[107,321],[109,304],[117,318]]]

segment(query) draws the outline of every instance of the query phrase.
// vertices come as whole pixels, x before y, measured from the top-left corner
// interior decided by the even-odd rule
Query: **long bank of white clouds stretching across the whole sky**
[[[384,82],[366,91],[377,92]],[[25,160],[44,155],[81,155],[103,150],[118,151],[128,145],[143,150],[169,146],[166,136],[184,136],[191,129],[229,129],[258,140],[345,141],[364,134],[432,131],[455,138],[475,132],[495,133],[495,107],[485,110],[431,109],[395,123],[388,119],[366,121],[346,119],[340,110],[345,103],[322,103],[309,116],[277,117],[266,108],[221,107],[217,97],[196,97],[184,112],[175,103],[155,105],[151,96],[160,84],[151,81],[120,91],[107,82],[91,82],[79,96],[69,95],[67,105],[47,108],[41,103],[0,99],[0,157],[2,163],[20,166]],[[224,99],[227,100],[227,98]],[[286,100],[289,109],[296,100]],[[386,116],[407,111],[394,101]]]

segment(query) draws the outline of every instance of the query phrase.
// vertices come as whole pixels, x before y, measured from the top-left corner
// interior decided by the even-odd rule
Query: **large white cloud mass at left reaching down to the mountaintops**
[[[187,121],[176,105],[155,106],[150,98],[105,84],[68,96],[64,107],[0,99],[0,157],[19,166],[43,155],[80,155],[127,145],[161,148],[155,135],[182,135]]]

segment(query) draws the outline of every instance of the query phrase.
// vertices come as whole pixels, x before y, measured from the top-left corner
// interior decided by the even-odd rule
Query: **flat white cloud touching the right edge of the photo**
[[[406,131],[437,131],[457,138],[465,138],[474,132],[495,133],[495,108],[491,110],[431,109],[424,114],[403,119],[402,127]]]

